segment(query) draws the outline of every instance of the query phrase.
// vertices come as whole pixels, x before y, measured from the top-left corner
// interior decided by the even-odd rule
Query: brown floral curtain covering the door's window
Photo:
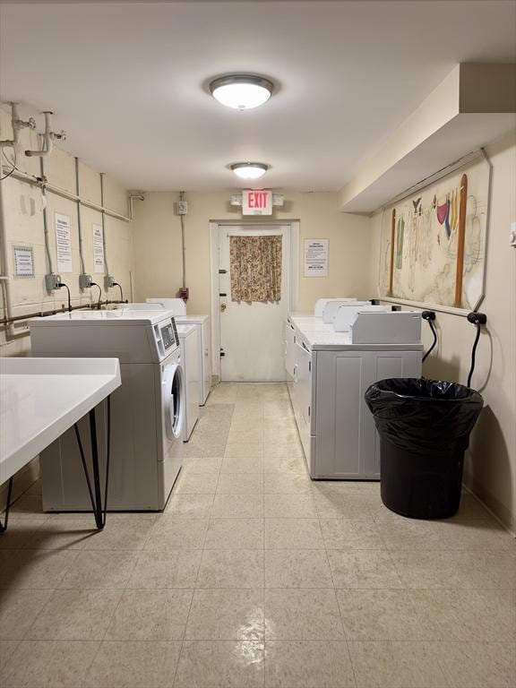
[[[232,301],[280,301],[282,236],[229,236]]]

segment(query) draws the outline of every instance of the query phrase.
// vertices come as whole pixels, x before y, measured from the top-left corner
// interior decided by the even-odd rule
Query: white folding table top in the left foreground
[[[0,358],[0,484],[120,384],[117,358]]]

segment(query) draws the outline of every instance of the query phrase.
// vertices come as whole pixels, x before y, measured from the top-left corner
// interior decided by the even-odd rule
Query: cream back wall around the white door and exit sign
[[[241,209],[229,205],[230,192],[186,193],[186,283],[189,313],[211,312],[210,221],[242,219]],[[181,286],[181,228],[174,214],[178,193],[145,193],[134,212],[135,296],[173,297]],[[304,238],[330,239],[328,278],[299,273],[299,310],[310,310],[319,297],[366,297],[371,283],[369,263],[371,220],[346,215],[337,208],[336,193],[285,193],[284,208],[275,208],[273,220],[300,221]],[[255,220],[255,218],[254,218]],[[302,251],[301,251],[302,253]]]

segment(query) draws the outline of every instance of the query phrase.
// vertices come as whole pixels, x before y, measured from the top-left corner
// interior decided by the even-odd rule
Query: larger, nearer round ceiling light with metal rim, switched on
[[[227,74],[210,84],[211,95],[219,103],[236,110],[249,110],[271,98],[274,84],[253,74]]]

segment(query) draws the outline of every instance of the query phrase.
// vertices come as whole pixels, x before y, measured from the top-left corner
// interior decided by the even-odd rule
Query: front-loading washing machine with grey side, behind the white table
[[[160,511],[181,469],[185,375],[170,312],[73,311],[30,320],[32,355],[117,357],[122,385],[111,397],[109,511]],[[97,413],[100,457],[107,413]],[[80,426],[89,455],[86,424]],[[73,429],[40,455],[43,509],[90,509]]]

